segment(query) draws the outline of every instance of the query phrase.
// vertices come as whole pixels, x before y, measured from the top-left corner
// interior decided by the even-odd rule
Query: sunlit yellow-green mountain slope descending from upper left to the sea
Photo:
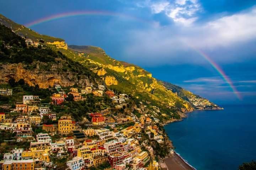
[[[170,118],[179,119],[180,116],[184,116],[183,113],[194,109],[219,109],[217,105],[204,98],[153,78],[152,74],[143,68],[114,60],[100,47],[67,46],[62,39],[38,34],[4,16],[0,16],[0,22],[13,29],[16,34],[23,37],[25,35],[26,38],[34,42],[64,54],[70,61],[81,64],[85,69],[89,68],[93,73],[97,74],[97,76],[93,76],[94,79],[96,77],[97,79],[103,79],[110,89],[131,94],[138,104],[144,104],[151,111],[158,107],[160,113],[166,115],[166,120]],[[64,73],[62,72],[62,74]],[[75,82],[78,82],[78,80],[74,81],[73,84]],[[79,83],[79,85],[82,84]],[[202,100],[204,102],[201,102]]]

